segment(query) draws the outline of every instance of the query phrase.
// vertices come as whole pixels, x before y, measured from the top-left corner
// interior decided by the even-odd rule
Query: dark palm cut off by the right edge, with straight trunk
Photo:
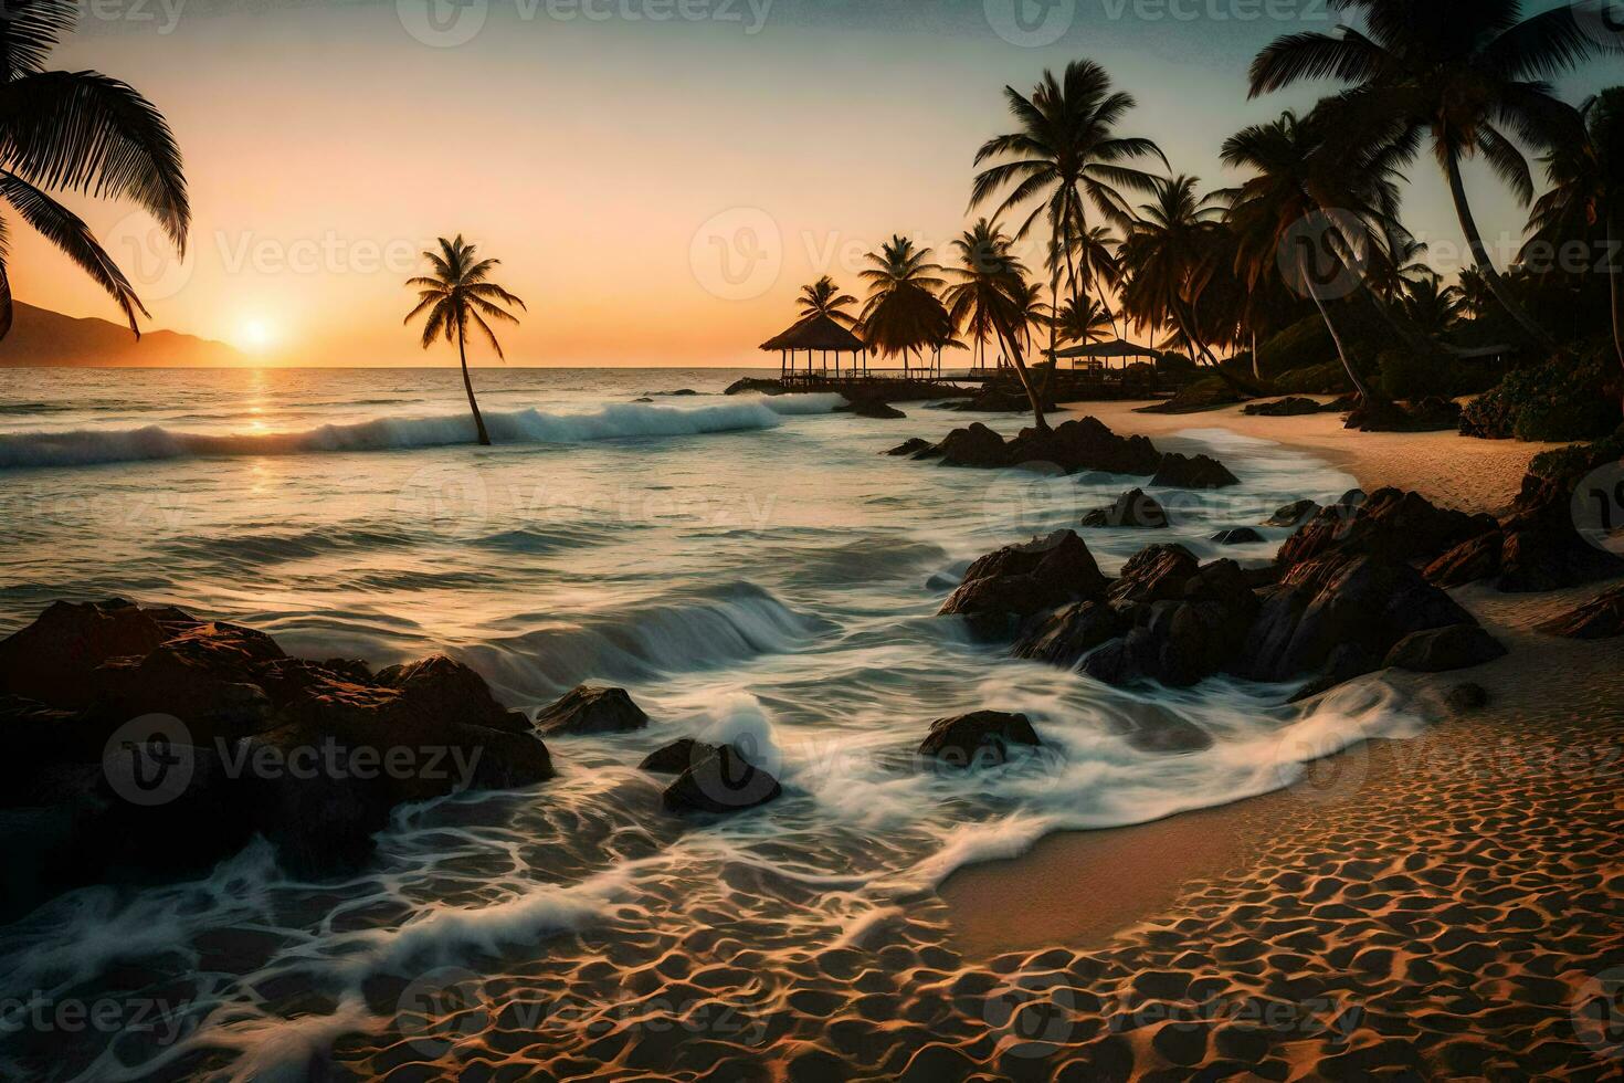
[[[1613,346],[1624,365],[1624,88],[1601,91],[1580,109],[1588,138],[1559,145],[1546,159],[1551,190],[1535,203],[1533,242],[1595,239],[1608,253]]]

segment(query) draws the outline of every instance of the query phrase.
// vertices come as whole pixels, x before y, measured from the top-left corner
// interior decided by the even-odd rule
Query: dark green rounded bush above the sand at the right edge
[[[1611,382],[1601,352],[1518,369],[1466,406],[1460,430],[1489,440],[1595,440],[1619,424]]]

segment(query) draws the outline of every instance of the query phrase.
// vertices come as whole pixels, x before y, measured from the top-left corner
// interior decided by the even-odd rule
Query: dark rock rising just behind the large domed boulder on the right
[[[1359,497],[1348,494],[1309,520],[1280,547],[1280,563],[1289,568],[1327,554],[1432,560],[1496,528],[1491,516],[1439,508],[1415,492],[1382,489]]]

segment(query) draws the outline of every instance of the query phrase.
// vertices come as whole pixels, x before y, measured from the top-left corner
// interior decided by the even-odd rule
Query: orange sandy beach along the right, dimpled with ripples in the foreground
[[[1473,511],[1507,505],[1541,450],[1346,434],[1338,416],[1083,412],[1122,434],[1280,440],[1367,490],[1400,485]],[[1411,697],[1432,723],[1424,736],[1358,745],[1260,799],[1051,836],[965,870],[942,891],[953,943],[994,969],[1049,951],[1098,974],[1088,987],[1104,1005],[1075,1018],[1101,1033],[1086,1060],[1111,1078],[1226,1062],[1263,1078],[1608,1078],[1624,1049],[1582,1007],[1624,961],[1624,641],[1535,630],[1598,589],[1455,591],[1507,658],[1364,679]],[[1462,682],[1481,684],[1488,708],[1445,706]],[[1255,1002],[1283,1023],[1234,1018]]]

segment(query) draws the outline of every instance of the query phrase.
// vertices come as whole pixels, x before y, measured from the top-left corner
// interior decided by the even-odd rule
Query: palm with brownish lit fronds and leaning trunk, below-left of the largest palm
[[[1385,159],[1361,164],[1358,157],[1328,154],[1320,135],[1324,123],[1320,114],[1299,119],[1285,112],[1224,141],[1223,164],[1252,172],[1229,209],[1237,237],[1236,268],[1254,291],[1280,274],[1294,292],[1311,297],[1348,380],[1369,398],[1371,388],[1348,354],[1315,274],[1324,270],[1322,260],[1340,260],[1343,274],[1350,273],[1346,261],[1371,265],[1358,257],[1379,250],[1389,235],[1387,208],[1397,201],[1397,188]],[[1345,235],[1350,232],[1351,237]]]

